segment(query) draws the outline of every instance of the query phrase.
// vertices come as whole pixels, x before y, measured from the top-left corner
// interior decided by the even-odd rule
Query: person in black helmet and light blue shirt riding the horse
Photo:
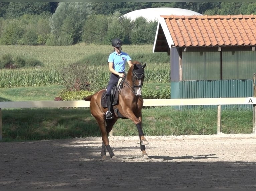
[[[111,89],[118,82],[120,77],[125,77],[125,63],[129,64],[129,67],[132,65],[132,59],[130,56],[122,52],[122,41],[118,38],[112,39],[112,46],[114,47],[114,52],[109,55],[108,65],[110,74],[110,80],[107,86],[106,96],[107,96],[107,105],[108,111],[106,112],[106,119],[112,119],[112,113],[110,111],[112,105],[111,99]]]

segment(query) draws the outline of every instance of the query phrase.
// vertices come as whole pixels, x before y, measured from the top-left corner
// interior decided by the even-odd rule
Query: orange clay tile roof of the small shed
[[[161,15],[174,46],[254,46],[256,15]]]

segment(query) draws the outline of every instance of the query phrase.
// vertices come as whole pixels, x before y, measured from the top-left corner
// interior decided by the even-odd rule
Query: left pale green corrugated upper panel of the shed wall
[[[183,52],[182,80],[220,79],[220,52]]]

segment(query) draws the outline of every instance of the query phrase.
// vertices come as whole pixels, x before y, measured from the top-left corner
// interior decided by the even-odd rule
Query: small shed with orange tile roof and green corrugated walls
[[[171,98],[253,97],[255,46],[254,15],[161,15],[153,52],[170,55]]]

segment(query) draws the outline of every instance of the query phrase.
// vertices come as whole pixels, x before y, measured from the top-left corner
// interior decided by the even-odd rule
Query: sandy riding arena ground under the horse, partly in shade
[[[110,137],[118,160],[102,160],[100,137],[3,142],[0,189],[256,189],[255,134]]]

